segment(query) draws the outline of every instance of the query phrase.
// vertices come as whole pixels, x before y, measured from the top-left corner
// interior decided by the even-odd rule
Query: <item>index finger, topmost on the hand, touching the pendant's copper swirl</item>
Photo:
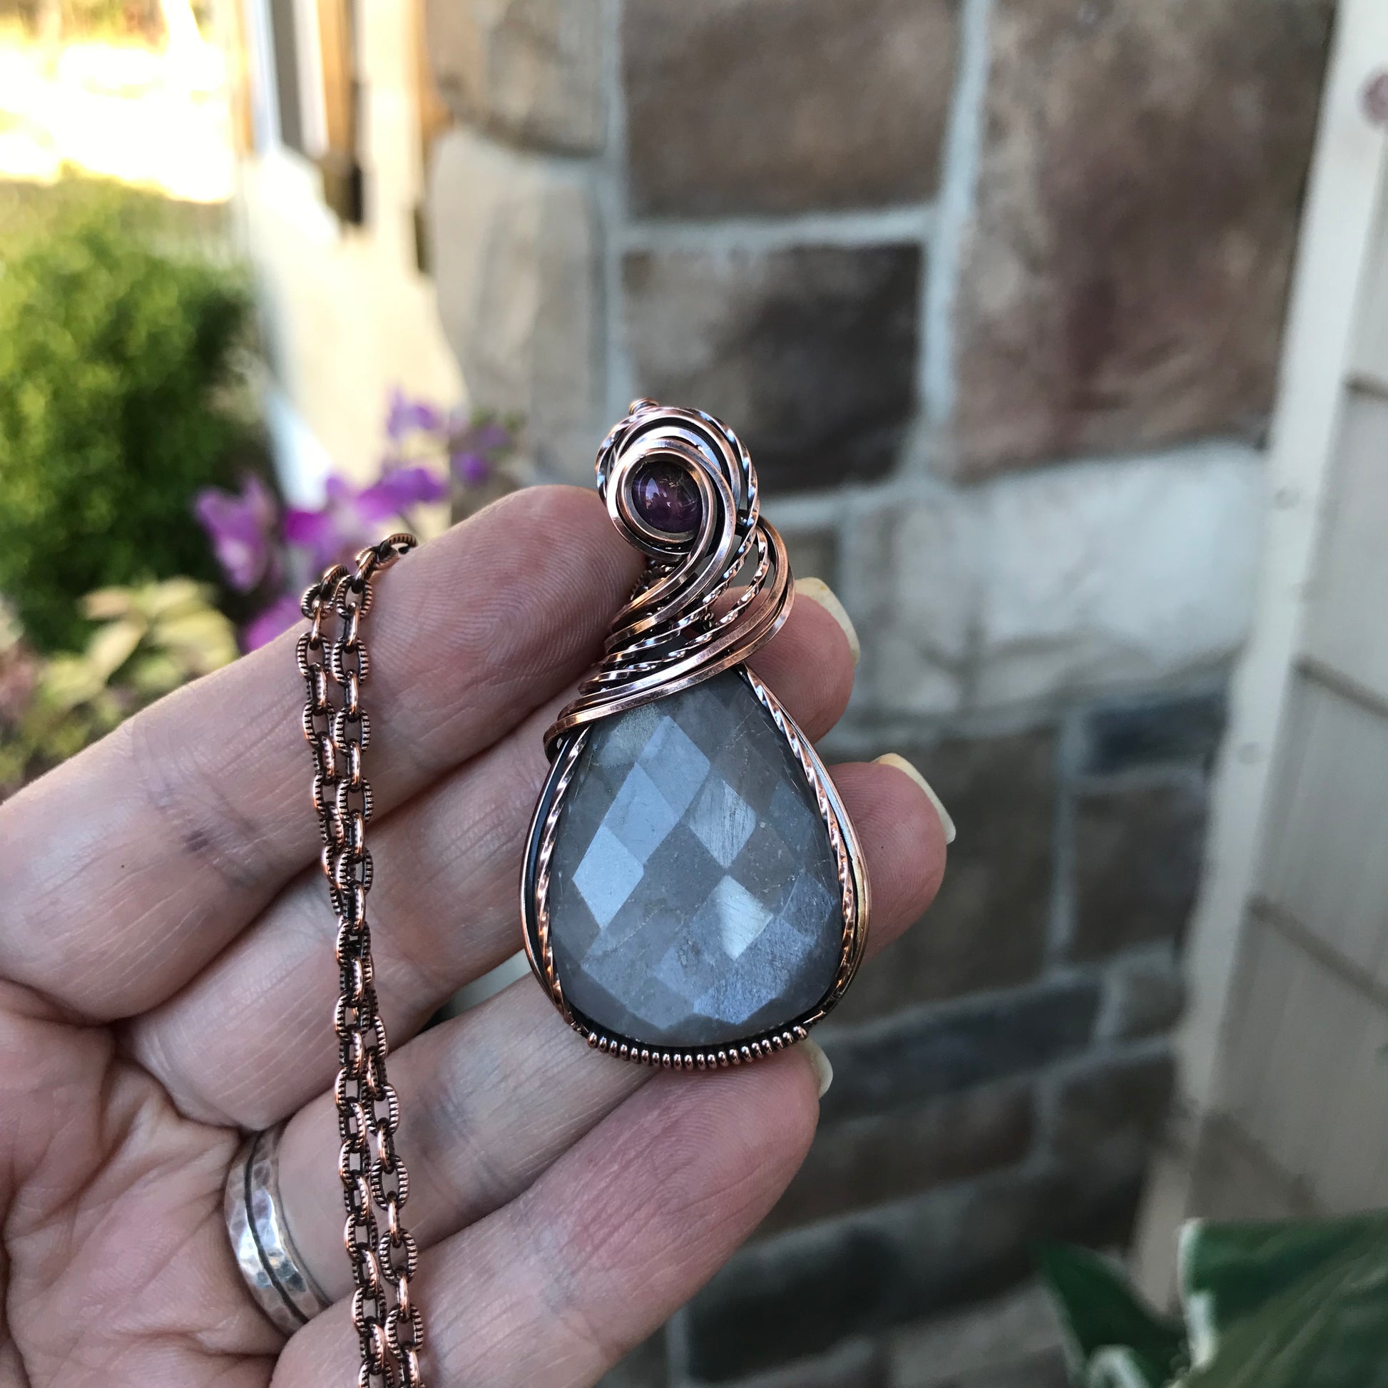
[[[366,776],[389,809],[590,663],[640,568],[597,496],[533,487],[378,580]],[[0,974],[90,1019],[193,977],[319,851],[297,633],[0,805]]]

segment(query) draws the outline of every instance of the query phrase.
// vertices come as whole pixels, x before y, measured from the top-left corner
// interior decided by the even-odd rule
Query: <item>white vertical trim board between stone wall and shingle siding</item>
[[[1192,1155],[1219,1073],[1230,985],[1266,830],[1274,754],[1305,622],[1307,580],[1335,451],[1369,247],[1384,187],[1385,135],[1362,92],[1388,64],[1388,4],[1342,0],[1335,22],[1269,452],[1267,515],[1253,626],[1234,679],[1214,784],[1201,898],[1177,1033],[1180,1095],[1138,1224],[1135,1270],[1159,1301],[1176,1285],[1176,1231],[1188,1213]]]

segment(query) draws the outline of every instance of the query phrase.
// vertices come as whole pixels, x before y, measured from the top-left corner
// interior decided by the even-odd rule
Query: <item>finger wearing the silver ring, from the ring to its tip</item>
[[[852,765],[834,776],[867,855],[876,952],[929,905],[944,869],[944,834],[926,795],[901,772]],[[391,1081],[405,1115],[400,1146],[421,1246],[518,1196],[652,1073],[591,1051],[529,979],[403,1047],[391,1058]],[[325,1095],[290,1122],[279,1173],[296,1246],[332,1295],[348,1289],[341,1196],[330,1178],[337,1146],[336,1110]]]

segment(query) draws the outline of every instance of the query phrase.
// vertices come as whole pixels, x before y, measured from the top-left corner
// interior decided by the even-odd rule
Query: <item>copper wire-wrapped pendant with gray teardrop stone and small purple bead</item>
[[[526,954],[597,1049],[741,1065],[802,1040],[852,980],[862,854],[815,748],[744,663],[794,597],[745,447],[712,415],[637,400],[597,476],[647,566],[545,733]]]

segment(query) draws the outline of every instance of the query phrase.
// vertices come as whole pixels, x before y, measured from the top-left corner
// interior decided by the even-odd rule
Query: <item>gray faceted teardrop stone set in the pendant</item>
[[[805,773],[736,670],[589,731],[550,880],[569,1002],[650,1045],[719,1045],[808,1012],[844,917]]]

